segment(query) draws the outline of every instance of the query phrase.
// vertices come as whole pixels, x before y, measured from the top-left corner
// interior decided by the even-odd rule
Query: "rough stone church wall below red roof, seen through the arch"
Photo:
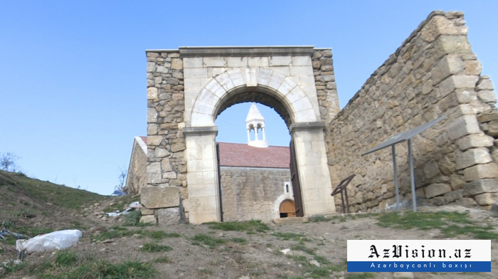
[[[275,200],[285,194],[286,181],[289,169],[221,167],[223,221],[275,219]]]

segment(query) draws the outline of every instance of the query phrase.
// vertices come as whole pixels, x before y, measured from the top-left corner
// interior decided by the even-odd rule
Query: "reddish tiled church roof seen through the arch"
[[[220,166],[289,169],[289,147],[251,147],[248,144],[218,142]]]

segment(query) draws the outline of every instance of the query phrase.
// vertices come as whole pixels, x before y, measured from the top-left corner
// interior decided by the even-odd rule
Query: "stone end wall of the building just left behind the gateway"
[[[128,174],[124,190],[127,191],[128,194],[139,194],[140,189],[147,186],[146,174],[147,155],[145,154],[144,149],[140,147],[137,139],[134,139],[132,157],[129,160]]]

